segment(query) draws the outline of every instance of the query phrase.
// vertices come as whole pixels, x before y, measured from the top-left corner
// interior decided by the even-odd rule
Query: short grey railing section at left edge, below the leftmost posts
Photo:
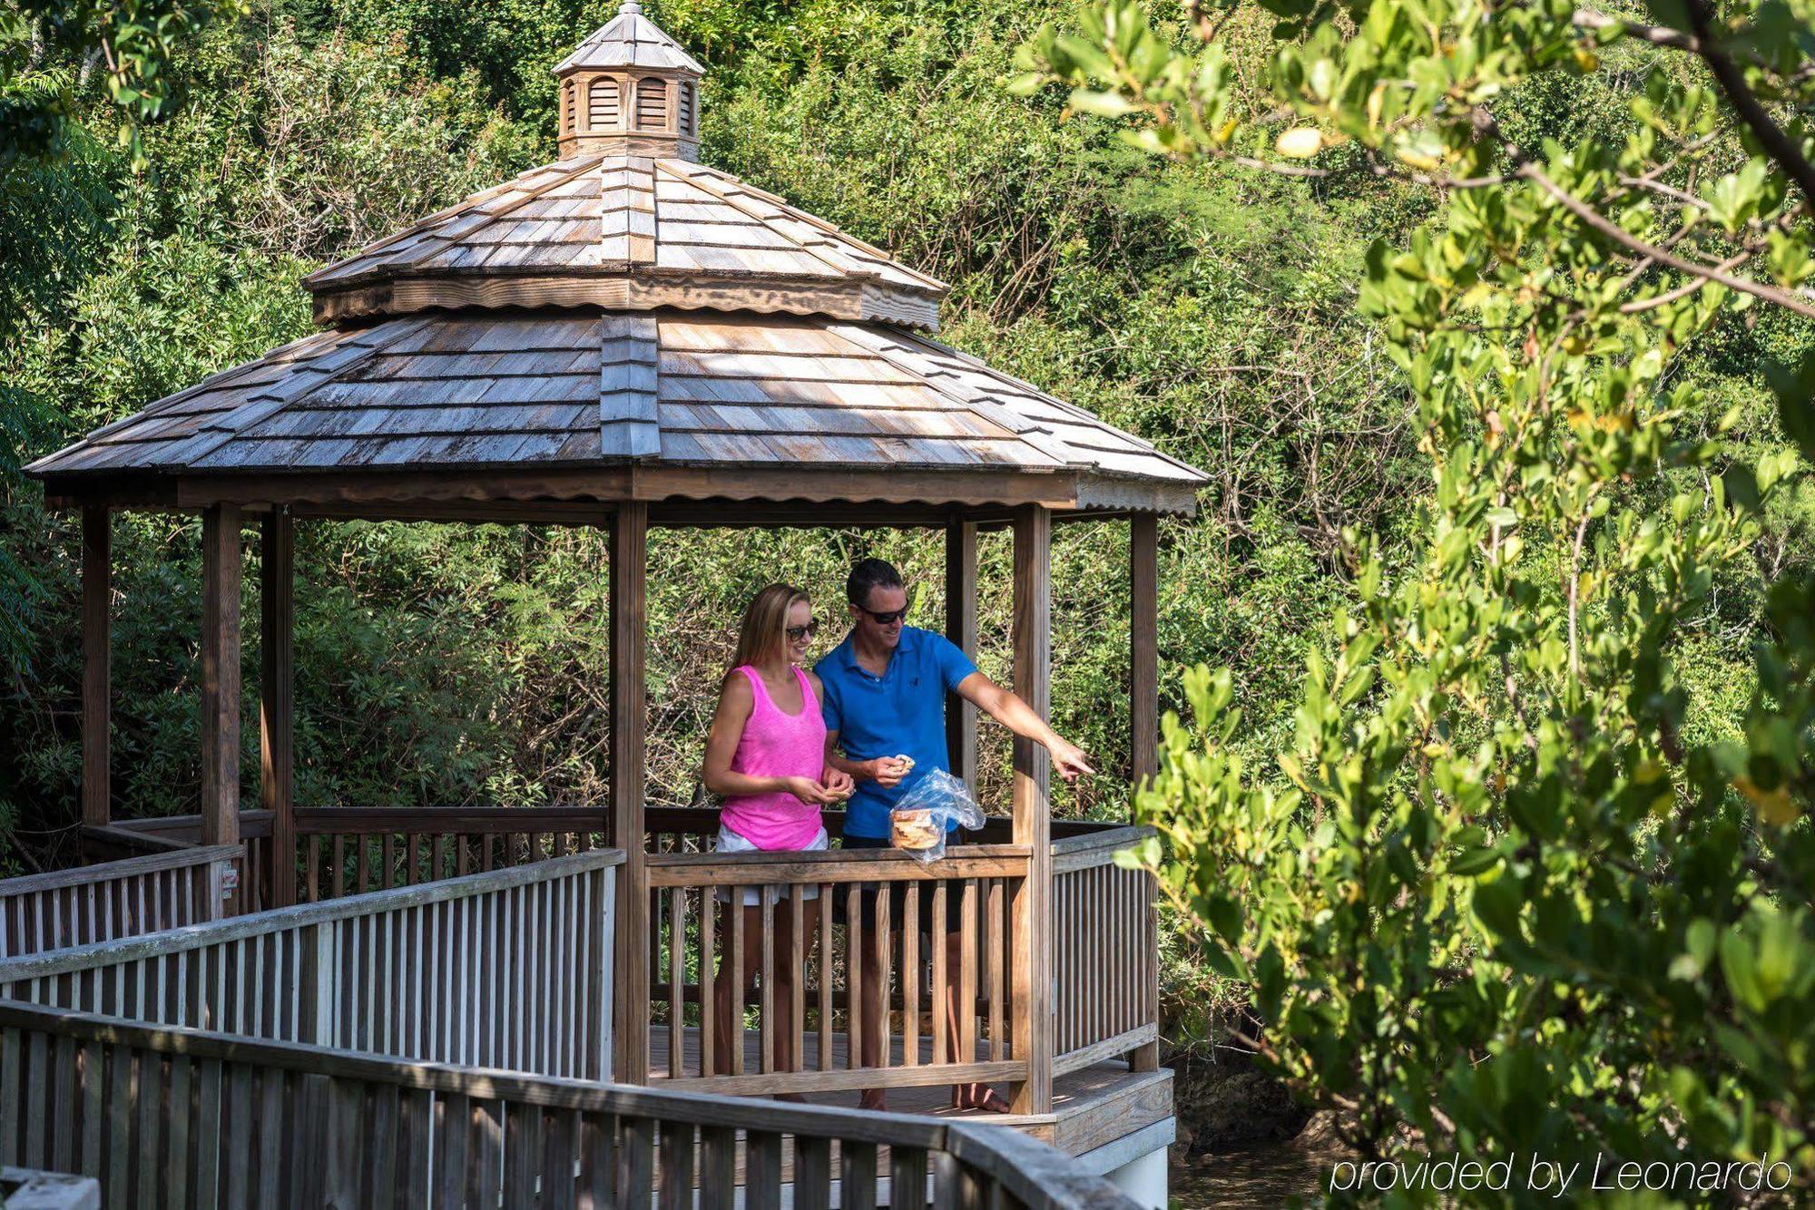
[[[0,960],[218,920],[221,871],[241,858],[183,847],[0,880]]]

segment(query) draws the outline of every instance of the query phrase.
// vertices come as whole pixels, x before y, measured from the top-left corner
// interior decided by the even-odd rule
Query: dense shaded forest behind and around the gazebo
[[[646,11],[710,69],[702,160],[953,283],[942,339],[1205,468],[1200,517],[1162,530],[1163,706],[1174,669],[1238,669],[1247,744],[1292,727],[1305,651],[1347,595],[1343,526],[1392,551],[1428,484],[1414,408],[1349,283],[1376,236],[1441,205],[1414,187],[1167,165],[1049,98],[1007,96],[1015,47],[1069,5],[1027,0],[666,0]],[[180,103],[134,172],[116,114],[87,105],[67,154],[0,181],[0,871],[60,860],[80,775],[78,524],[18,468],[201,376],[310,330],[299,279],[466,192],[555,158],[548,69],[615,0],[272,0],[174,63]],[[1160,5],[1167,13],[1165,5]],[[1178,18],[1176,9],[1169,13]],[[1238,18],[1249,20],[1249,18]],[[1252,18],[1252,53],[1270,18]],[[1180,25],[1182,31],[1182,25]],[[38,51],[47,62],[56,45]],[[1626,82],[1634,83],[1634,82]],[[1615,122],[1621,82],[1521,98],[1519,141]],[[1750,316],[1697,343],[1713,426],[1775,444],[1757,374],[1808,345]],[[1806,501],[1804,501],[1806,504]],[[116,521],[114,815],[196,807],[198,524]],[[937,535],[697,533],[650,541],[650,784],[695,798],[717,677],[742,602],[771,579],[839,617],[855,557],[895,559],[942,617]],[[984,539],[984,668],[1007,673],[1007,539]],[[1766,566],[1806,559],[1773,519]],[[249,550],[249,571],[256,544]],[[1129,796],[1123,526],[1055,544],[1053,715],[1100,775],[1062,815]],[[1692,633],[1695,726],[1733,727],[1751,688],[1755,588]],[[309,805],[597,802],[610,778],[603,535],[506,526],[310,522],[298,530],[296,784]],[[245,591],[247,717],[258,695]],[[833,628],[837,631],[837,628]],[[826,639],[822,637],[822,642]],[[241,769],[256,795],[256,727]],[[984,731],[1004,809],[1007,737]],[[1205,1005],[1167,967],[1174,1029]]]

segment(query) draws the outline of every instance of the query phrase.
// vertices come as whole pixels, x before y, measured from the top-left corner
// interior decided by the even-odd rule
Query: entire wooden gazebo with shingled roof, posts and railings
[[[893,854],[875,854],[866,864],[857,854],[831,853],[824,854],[826,865],[804,874],[800,869],[811,864],[782,869],[757,854],[759,860],[742,865],[722,858],[717,874],[701,878],[681,871],[679,854],[664,856],[661,844],[655,853],[646,851],[652,847],[646,836],[684,831],[644,807],[648,528],[942,528],[947,631],[975,651],[976,532],[1013,526],[1013,678],[1015,689],[1044,713],[1051,526],[1069,519],[1127,521],[1138,778],[1154,767],[1158,731],[1156,519],[1189,515],[1203,475],[1080,408],[938,345],[929,334],[938,327],[946,294],[940,281],[701,165],[702,69],[641,15],[635,0],[626,0],[555,71],[559,161],[474,194],[309,278],[321,332],[100,428],[29,472],[44,481],[53,506],[83,512],[82,816],[93,829],[109,827],[111,798],[109,512],[182,510],[201,513],[205,577],[203,789],[194,838],[209,845],[241,840],[240,541],[241,528],[256,521],[265,637],[258,815],[269,833],[261,833],[261,844],[272,856],[258,874],[265,887],[260,902],[247,907],[325,898],[327,871],[341,854],[334,842],[319,871],[316,847],[299,856],[305,845],[298,820],[303,818],[303,838],[323,834],[327,825],[309,824],[310,809],[299,811],[290,793],[296,521],[606,528],[612,776],[601,831],[628,854],[617,882],[613,1074],[633,1083],[662,1076],[661,1056],[652,1072],[650,1038],[650,1003],[662,985],[652,989],[650,974],[661,978],[666,961],[662,925],[652,916],[666,903],[673,951],[666,981],[673,1032],[666,1076],[679,1079],[692,1070],[681,1050],[695,1045],[682,1038],[688,1000],[681,985],[693,978],[710,989],[711,963],[704,963],[702,974],[686,976],[682,967],[692,969],[692,960],[682,961],[682,942],[675,938],[692,945],[704,923],[710,951],[710,922],[688,931],[695,920],[690,903],[701,903],[701,916],[710,916],[706,887],[715,880],[790,882],[788,869],[795,871],[793,882],[828,889],[842,889],[842,880],[855,878],[851,871],[866,878],[915,874],[886,873],[909,865],[889,862]],[[955,771],[971,775],[975,718],[967,709],[949,715]],[[976,936],[987,951],[976,971],[966,972],[984,981],[978,1003],[993,996],[991,1009],[978,1012],[1009,1018],[989,1027],[993,1061],[980,1052],[944,1056],[944,1065],[935,1061],[937,1070],[927,1069],[917,1079],[918,1085],[951,1083],[957,1076],[1004,1079],[1013,1085],[1015,1108],[1024,1116],[1053,1110],[1055,1074],[1116,1054],[1127,1056],[1133,1070],[1151,1070],[1156,1038],[1147,987],[1156,971],[1147,903],[1136,902],[1127,889],[1133,883],[1111,885],[1111,874],[1125,873],[1107,862],[1114,836],[1091,840],[1074,831],[1067,833],[1071,840],[1055,842],[1047,775],[1045,753],[1016,744],[1011,829],[1000,844],[978,845],[969,854],[957,851],[957,864],[947,865],[955,871],[949,878],[969,880],[962,887],[951,883],[953,920],[964,912],[971,927],[975,909]],[[385,878],[392,874],[394,833],[401,844],[405,833],[436,831],[397,815],[365,829],[383,831]],[[546,831],[563,829],[563,834],[588,831],[584,822]],[[363,853],[361,847],[359,885]],[[468,853],[459,847],[463,871]],[[483,853],[490,862],[490,849]],[[1102,860],[1078,856],[1093,853]],[[708,864],[699,853],[686,858],[688,869]],[[1065,911],[1062,894],[1055,903],[1055,880],[1064,871],[1093,876],[1111,871],[1091,885],[1120,896],[1131,932],[1116,934],[1114,916],[1093,909],[1089,918],[1109,922],[1102,923],[1109,934],[1091,943],[1145,952],[1129,976],[1122,1016],[1107,1005],[1096,1027],[1080,1016],[1073,1030],[1078,1045],[1055,1043],[1056,1034],[1071,1029],[1065,1009],[1055,1005],[1067,978],[1055,963],[1071,961],[1065,954],[1055,958],[1055,912]],[[338,867],[332,882],[341,889]],[[1007,902],[995,914],[1002,896]],[[1078,903],[1078,911],[1085,907]],[[996,932],[998,927],[1006,932]],[[829,920],[824,940],[829,952]],[[799,951],[799,936],[793,945]],[[991,960],[1006,961],[1007,971],[998,965],[991,972]],[[1087,954],[1080,960],[1096,961]],[[942,961],[935,961],[937,978],[944,978]],[[909,949],[902,963],[906,971],[918,958]],[[1080,987],[1096,980],[1089,969],[1076,976]],[[835,1001],[831,981],[822,985],[822,1029],[829,1029]],[[927,1041],[918,1034],[918,980],[902,980],[900,996],[913,1009],[913,1025],[904,1018],[908,1038],[900,1039],[913,1052],[902,1061],[913,1067],[918,1043]],[[1085,1005],[1078,1012],[1087,1016],[1096,1009]],[[706,1039],[699,1045],[710,1049],[710,1029],[704,1021],[701,1029]],[[938,1059],[942,1038],[933,1045]],[[829,1041],[826,1047],[820,1069],[780,1072],[766,1083],[742,1074],[739,1047],[730,1070],[726,1063],[715,1069],[708,1058],[688,1083],[731,1092],[815,1092],[875,1081],[875,1072],[831,1079],[826,1067],[833,1050]],[[960,1059],[967,1067],[955,1065]]]

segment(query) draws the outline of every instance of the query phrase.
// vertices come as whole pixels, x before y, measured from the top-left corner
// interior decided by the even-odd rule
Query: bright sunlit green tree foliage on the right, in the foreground
[[[1399,551],[1345,533],[1267,760],[1236,677],[1187,675],[1138,802],[1163,844],[1125,856],[1367,1156],[1692,1161],[1701,1201],[1701,1165],[1768,1154],[1806,1197],[1815,359],[1770,365],[1775,426],[1708,368],[1808,346],[1815,9],[1267,9],[1256,74],[1221,9],[1180,49],[1109,4],[1018,83],[1165,156],[1434,189],[1358,274],[1434,493]],[[1572,89],[1619,103],[1559,127]],[[1744,688],[1706,677],[1721,629]]]

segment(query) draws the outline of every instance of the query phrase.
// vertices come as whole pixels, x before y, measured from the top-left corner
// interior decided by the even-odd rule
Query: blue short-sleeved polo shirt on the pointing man
[[[826,653],[813,671],[826,686],[826,729],[851,760],[911,756],[913,771],[884,789],[858,782],[846,805],[846,836],[888,836],[889,807],[929,769],[951,769],[946,758],[946,695],[976,671],[964,648],[929,629],[902,626],[900,644],[880,677],[857,662],[855,635]],[[957,827],[957,824],[953,824]]]

